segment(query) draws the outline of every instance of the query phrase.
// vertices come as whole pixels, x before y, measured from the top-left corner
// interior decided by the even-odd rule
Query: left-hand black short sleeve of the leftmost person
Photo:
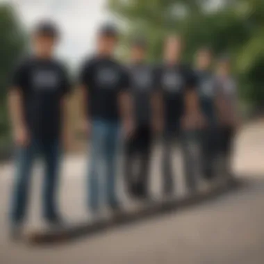
[[[24,90],[26,88],[26,76],[28,75],[27,72],[28,67],[26,66],[26,63],[18,63],[14,67],[13,72],[10,74],[10,89],[19,88]]]

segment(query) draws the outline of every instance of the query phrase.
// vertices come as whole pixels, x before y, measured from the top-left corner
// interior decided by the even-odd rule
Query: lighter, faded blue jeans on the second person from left
[[[99,209],[99,177],[104,181],[104,190],[108,205],[117,205],[115,179],[118,142],[119,125],[117,122],[104,120],[92,121],[90,168],[88,172],[88,206],[90,206],[92,211]]]

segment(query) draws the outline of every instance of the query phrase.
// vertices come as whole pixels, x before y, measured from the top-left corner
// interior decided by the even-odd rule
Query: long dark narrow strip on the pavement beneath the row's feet
[[[160,215],[182,210],[183,208],[188,208],[188,206],[194,206],[203,202],[210,202],[217,197],[226,194],[226,192],[230,192],[231,190],[233,192],[238,192],[245,188],[254,188],[257,184],[255,182],[257,181],[257,178],[255,179],[254,177],[250,177],[249,179],[249,177],[244,175],[238,177],[238,179],[220,183],[213,186],[210,190],[199,192],[189,197],[183,197],[181,199],[168,199],[152,204],[146,204],[137,211],[124,211],[109,220],[101,220],[94,223],[83,222],[67,226],[65,229],[56,229],[52,231],[35,231],[26,236],[26,241],[31,245],[74,242],[81,238],[94,236],[115,227],[136,224],[142,220],[151,219]]]

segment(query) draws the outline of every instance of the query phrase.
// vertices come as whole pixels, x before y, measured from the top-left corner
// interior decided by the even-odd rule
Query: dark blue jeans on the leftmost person
[[[13,224],[24,220],[28,207],[31,172],[35,158],[41,156],[44,162],[44,183],[42,186],[43,216],[49,220],[57,216],[56,190],[60,160],[59,140],[31,140],[27,147],[19,147],[16,156],[16,175],[13,187],[10,217]]]

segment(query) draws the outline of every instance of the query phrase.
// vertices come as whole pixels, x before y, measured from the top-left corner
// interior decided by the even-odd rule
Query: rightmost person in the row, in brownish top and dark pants
[[[217,91],[217,115],[220,123],[219,158],[222,174],[231,178],[233,141],[239,126],[238,88],[231,75],[229,56],[221,56],[217,62],[215,78]]]

